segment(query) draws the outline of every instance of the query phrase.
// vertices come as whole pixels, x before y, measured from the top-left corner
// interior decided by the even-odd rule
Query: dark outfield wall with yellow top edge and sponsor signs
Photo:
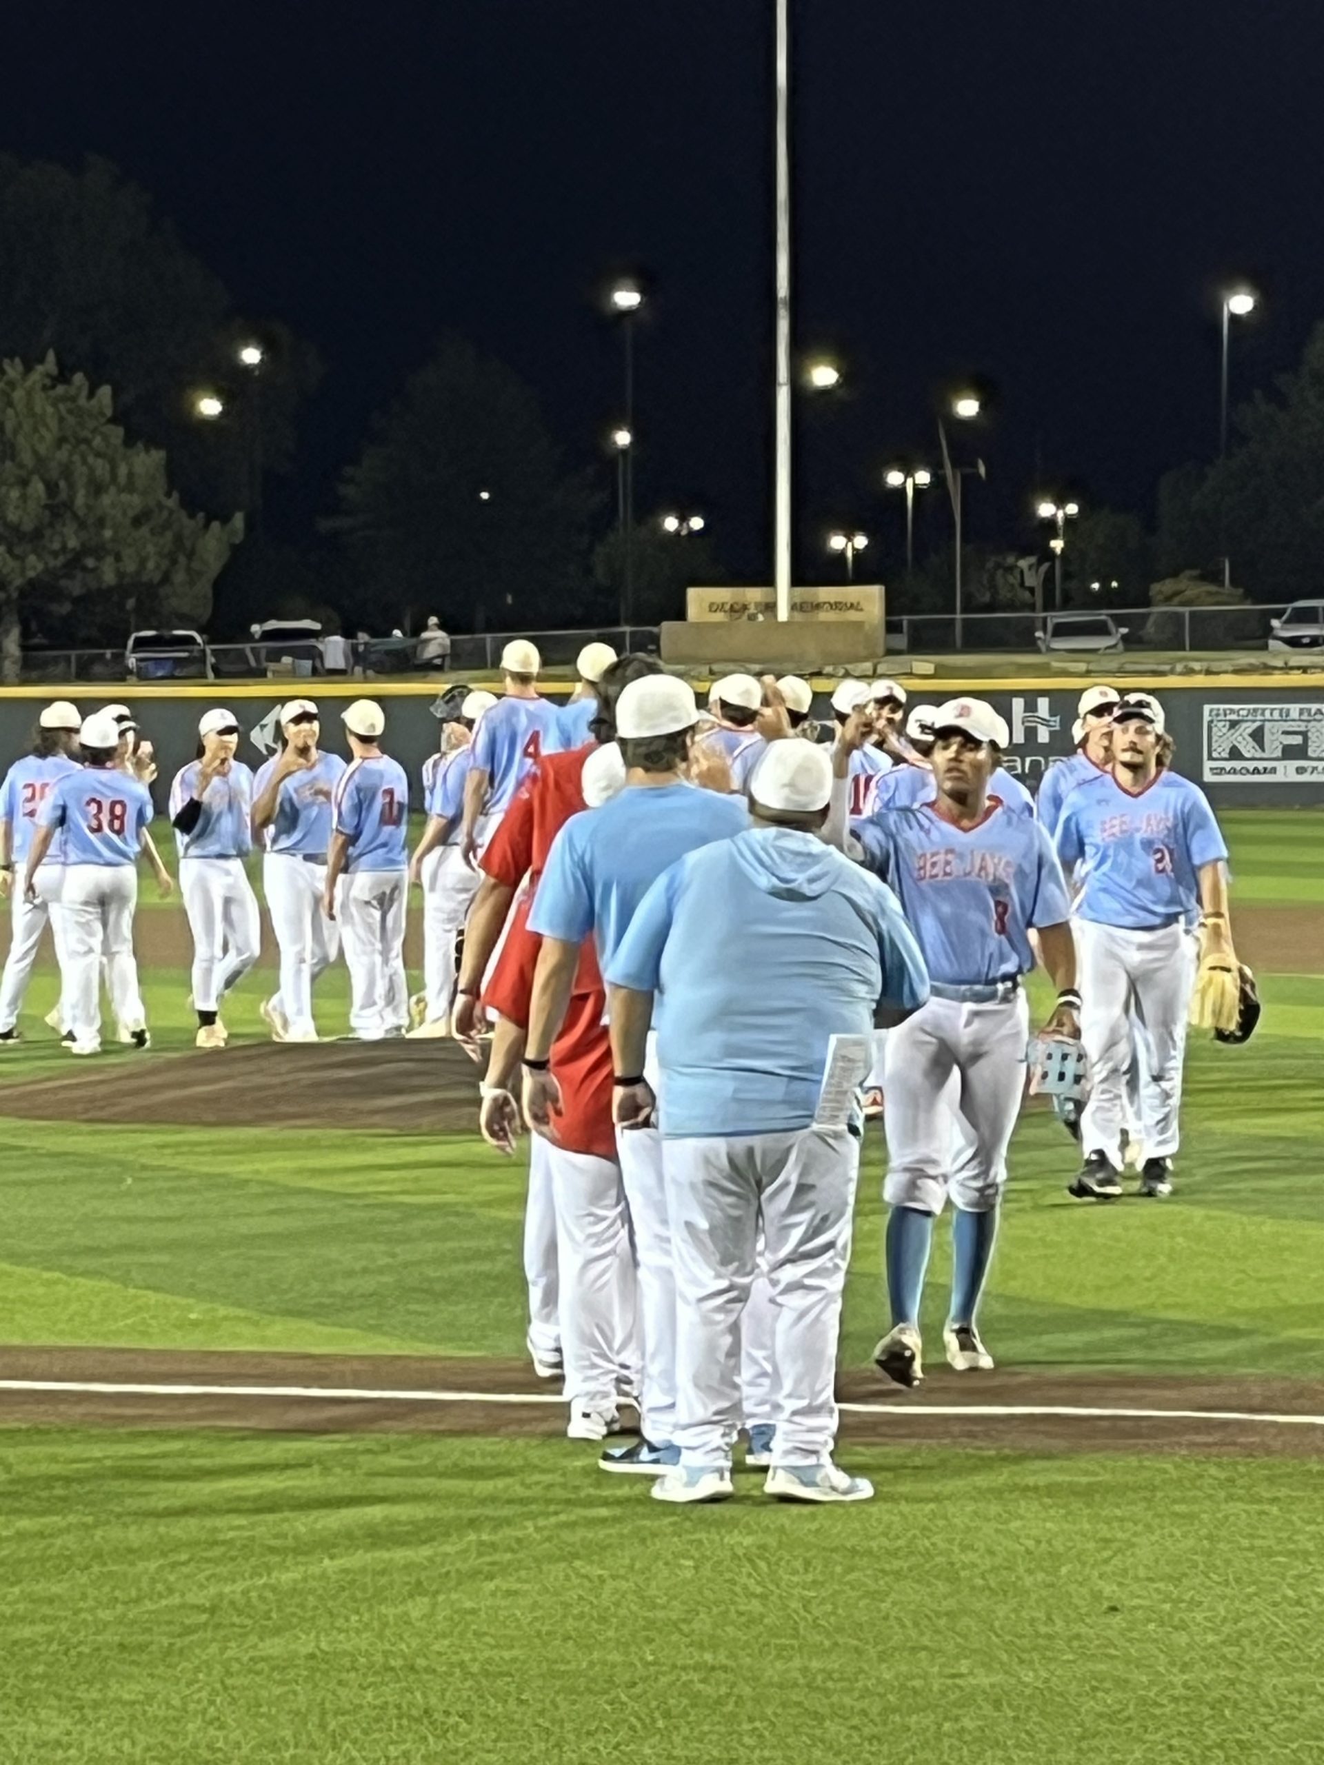
[[[244,729],[240,759],[258,766],[279,743],[275,708],[302,683],[141,687],[122,690],[118,702],[132,706],[145,734],[152,738],[161,762],[159,794],[173,773],[196,750],[199,715],[214,704],[233,710]],[[833,681],[816,680],[814,710],[830,720],[828,694]],[[990,699],[1006,718],[1012,743],[1006,766],[1031,789],[1047,768],[1072,752],[1072,722],[1084,680],[1063,687],[1059,680],[936,680],[927,690],[934,699],[971,692]],[[323,741],[342,747],[339,710],[365,692],[387,710],[387,747],[417,777],[424,759],[436,748],[440,706],[436,685],[390,681],[307,683],[323,711]],[[696,681],[703,695],[708,681]],[[1324,685],[1273,674],[1255,680],[1246,674],[1206,676],[1185,683],[1169,678],[1126,680],[1126,687],[1155,692],[1167,710],[1169,729],[1177,743],[1176,770],[1202,784],[1222,807],[1271,805],[1276,808],[1324,805]],[[549,695],[558,688],[549,685]],[[560,694],[568,688],[561,687]],[[913,701],[922,697],[922,683],[909,687]],[[0,771],[21,754],[48,687],[12,687],[0,690]],[[106,697],[79,695],[81,711],[113,702]]]

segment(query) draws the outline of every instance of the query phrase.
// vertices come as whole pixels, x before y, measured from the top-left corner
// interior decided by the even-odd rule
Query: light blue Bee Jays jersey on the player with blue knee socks
[[[1027,974],[1029,928],[1070,918],[1052,840],[1033,815],[997,805],[959,828],[920,805],[879,810],[853,831],[870,870],[900,897],[929,974],[946,987]]]

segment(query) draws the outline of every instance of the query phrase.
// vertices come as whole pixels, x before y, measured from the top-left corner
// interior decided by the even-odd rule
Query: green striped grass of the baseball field
[[[1225,824],[1237,907],[1324,905],[1324,815]],[[1072,1144],[1024,1117],[985,1308],[1006,1364],[1324,1378],[1313,967],[1262,978],[1246,1048],[1192,1048],[1172,1202],[1072,1204]],[[157,1048],[189,1045],[185,992],[150,976]],[[41,973],[0,1117],[7,1084],[71,1066],[53,997]],[[334,974],[320,1017],[342,1013]],[[874,1138],[853,1364],[879,1175]],[[4,1119],[0,1341],[517,1356],[521,1205],[519,1167],[408,1126]],[[943,1283],[939,1255],[932,1329]],[[847,1456],[876,1502],[786,1511],[747,1477],[669,1511],[561,1440],[0,1430],[0,1761],[1317,1756],[1319,1458]]]

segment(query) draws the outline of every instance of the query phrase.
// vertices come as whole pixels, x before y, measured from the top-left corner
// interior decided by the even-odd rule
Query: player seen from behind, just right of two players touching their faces
[[[410,780],[381,752],[387,718],[374,699],[341,713],[353,759],[332,792],[332,842],[321,911],[339,918],[350,969],[350,1027],[360,1041],[402,1036]]]

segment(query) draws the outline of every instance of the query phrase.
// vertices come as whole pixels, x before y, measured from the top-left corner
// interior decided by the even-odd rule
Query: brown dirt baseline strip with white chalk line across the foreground
[[[839,1398],[847,1446],[1324,1458],[1305,1380],[937,1371],[909,1394],[849,1370]],[[23,1424],[556,1437],[565,1412],[523,1361],[0,1347],[0,1426]]]

